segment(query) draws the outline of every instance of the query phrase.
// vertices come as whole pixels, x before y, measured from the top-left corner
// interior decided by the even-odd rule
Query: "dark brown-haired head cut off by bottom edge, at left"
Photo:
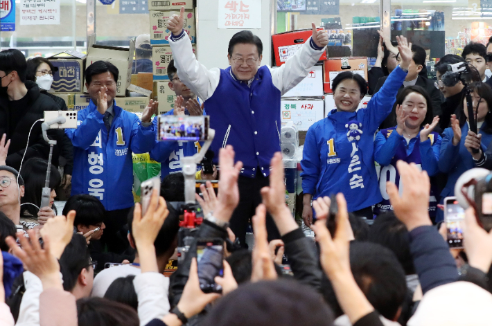
[[[139,316],[128,305],[105,298],[77,300],[78,326],[139,326]]]

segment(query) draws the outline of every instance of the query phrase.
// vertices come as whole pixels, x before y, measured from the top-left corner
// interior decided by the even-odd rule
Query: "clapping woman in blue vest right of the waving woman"
[[[415,163],[429,176],[439,172],[441,136],[433,132],[439,117],[432,120],[432,106],[428,93],[420,86],[405,87],[396,98],[396,127],[378,132],[374,143],[374,159],[380,164],[379,189],[383,201],[374,208],[374,213],[393,210],[386,192],[386,183],[391,181],[400,188],[397,161]],[[434,217],[437,208],[437,193],[430,189],[429,215]]]

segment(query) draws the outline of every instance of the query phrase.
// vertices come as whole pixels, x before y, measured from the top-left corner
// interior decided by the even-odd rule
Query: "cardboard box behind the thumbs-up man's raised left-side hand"
[[[150,10],[150,44],[162,45],[169,44],[168,38],[171,35],[167,28],[169,17],[174,14],[179,15],[179,11],[155,11]],[[191,43],[196,43],[195,31],[195,10],[186,10],[184,12],[184,31],[188,33]]]

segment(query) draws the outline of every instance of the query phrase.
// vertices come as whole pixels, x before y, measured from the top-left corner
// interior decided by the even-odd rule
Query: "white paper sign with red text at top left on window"
[[[60,25],[60,0],[21,0],[21,25]]]

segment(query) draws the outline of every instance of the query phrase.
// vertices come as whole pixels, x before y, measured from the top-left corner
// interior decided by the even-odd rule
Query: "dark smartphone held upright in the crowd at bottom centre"
[[[214,278],[224,274],[224,242],[222,239],[198,239],[197,263],[200,289],[204,293],[221,293],[222,287],[216,284]]]

